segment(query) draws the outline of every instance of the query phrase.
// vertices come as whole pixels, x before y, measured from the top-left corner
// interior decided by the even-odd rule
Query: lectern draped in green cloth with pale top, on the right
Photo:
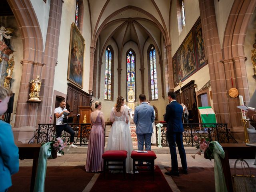
[[[216,123],[216,115],[212,107],[198,107],[202,123]],[[214,125],[206,125],[205,127],[214,127]]]

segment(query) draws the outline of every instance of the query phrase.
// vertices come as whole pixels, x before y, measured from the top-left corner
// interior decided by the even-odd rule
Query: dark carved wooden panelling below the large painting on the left
[[[92,99],[92,95],[68,83],[66,108],[70,111],[70,117],[73,118],[73,123],[78,123],[78,118],[77,118],[77,115],[79,114],[78,107],[89,106],[89,102],[91,99]]]

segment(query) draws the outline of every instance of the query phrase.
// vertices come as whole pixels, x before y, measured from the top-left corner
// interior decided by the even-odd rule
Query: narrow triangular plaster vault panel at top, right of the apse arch
[[[168,29],[169,28],[169,13],[170,13],[170,3],[171,3],[171,0],[154,0],[155,3],[156,3],[156,6],[158,7],[158,9],[160,10],[161,12],[161,15],[164,19],[164,23],[166,25],[166,28]],[[159,21],[161,22],[161,21]],[[162,23],[162,22],[161,22]]]

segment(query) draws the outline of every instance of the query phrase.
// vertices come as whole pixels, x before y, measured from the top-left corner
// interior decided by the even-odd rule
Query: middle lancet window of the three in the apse
[[[135,78],[135,53],[128,50],[126,54],[126,100],[135,101],[136,78]]]

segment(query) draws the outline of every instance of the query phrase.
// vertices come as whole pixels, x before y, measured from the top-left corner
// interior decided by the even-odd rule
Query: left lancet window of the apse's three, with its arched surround
[[[113,100],[113,72],[114,72],[114,52],[112,47],[109,45],[106,48],[106,64],[105,64],[105,89],[104,98],[105,100]]]

